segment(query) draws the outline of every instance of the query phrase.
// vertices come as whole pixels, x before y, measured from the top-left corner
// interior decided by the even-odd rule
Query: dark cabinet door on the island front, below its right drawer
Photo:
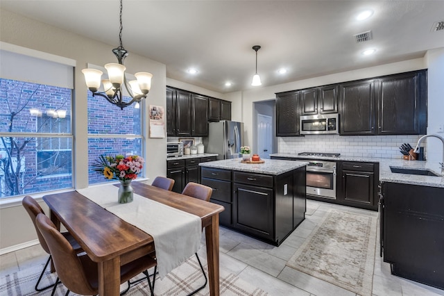
[[[234,183],[233,226],[273,240],[273,190]]]

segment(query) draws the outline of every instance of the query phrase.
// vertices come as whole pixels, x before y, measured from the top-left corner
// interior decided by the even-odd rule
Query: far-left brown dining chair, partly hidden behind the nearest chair
[[[35,201],[35,199],[33,199],[33,197],[30,197],[28,195],[22,199],[22,205],[24,206],[26,212],[28,212],[29,217],[31,217],[31,220],[33,221],[35,231],[37,232],[37,238],[39,239],[40,245],[42,246],[44,251],[49,254],[49,258],[46,261],[46,264],[44,265],[42,272],[40,273],[40,277],[37,280],[37,283],[35,284],[35,290],[37,292],[40,292],[42,290],[46,290],[47,288],[51,288],[52,286],[54,286],[56,284],[56,283],[53,283],[49,286],[39,288],[39,284],[40,284],[40,281],[42,280],[44,271],[46,270],[49,262],[51,261],[51,252],[49,252],[49,247],[48,247],[48,245],[46,245],[46,241],[44,240],[42,233],[40,233],[40,230],[37,228],[37,224],[35,224],[35,218],[37,217],[37,215],[38,214],[44,215],[44,211],[43,211],[42,207],[40,206],[40,204],[38,204]],[[76,240],[71,236],[71,233],[62,232],[62,236],[64,236],[67,239],[67,241],[69,242],[69,244],[71,245],[71,247],[74,249],[74,251],[76,253],[83,252],[83,249],[80,247],[80,245],[78,245]]]

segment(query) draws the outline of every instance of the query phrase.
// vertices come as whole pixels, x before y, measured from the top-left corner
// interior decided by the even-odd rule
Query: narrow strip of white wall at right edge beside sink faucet
[[[444,138],[444,48],[427,51],[425,56],[428,70],[428,117],[427,134],[441,135]],[[441,129],[441,130],[440,130]],[[437,138],[427,138],[427,159],[443,162],[443,143]]]

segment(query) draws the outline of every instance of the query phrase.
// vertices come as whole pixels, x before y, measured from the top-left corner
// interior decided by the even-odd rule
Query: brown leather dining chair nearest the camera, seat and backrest
[[[62,233],[56,229],[56,226],[46,215],[38,214],[35,222],[51,251],[58,275],[57,281],[60,280],[68,289],[65,296],[69,292],[80,295],[99,294],[97,263],[92,261],[87,254],[77,255],[65,236],[62,236]],[[120,268],[121,283],[129,281],[140,273],[148,275],[148,269],[153,267],[156,270],[157,263],[149,254],[126,263]],[[151,286],[150,278],[147,277],[147,279],[150,293],[153,296],[155,281],[153,280],[153,286]],[[51,296],[56,293],[56,288],[57,285],[54,286]]]

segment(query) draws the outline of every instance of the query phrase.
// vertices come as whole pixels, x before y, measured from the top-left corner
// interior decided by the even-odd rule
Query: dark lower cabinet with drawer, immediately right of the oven
[[[342,192],[338,198],[348,205],[376,210],[375,186],[379,176],[375,176],[375,163],[343,162],[341,165]]]

